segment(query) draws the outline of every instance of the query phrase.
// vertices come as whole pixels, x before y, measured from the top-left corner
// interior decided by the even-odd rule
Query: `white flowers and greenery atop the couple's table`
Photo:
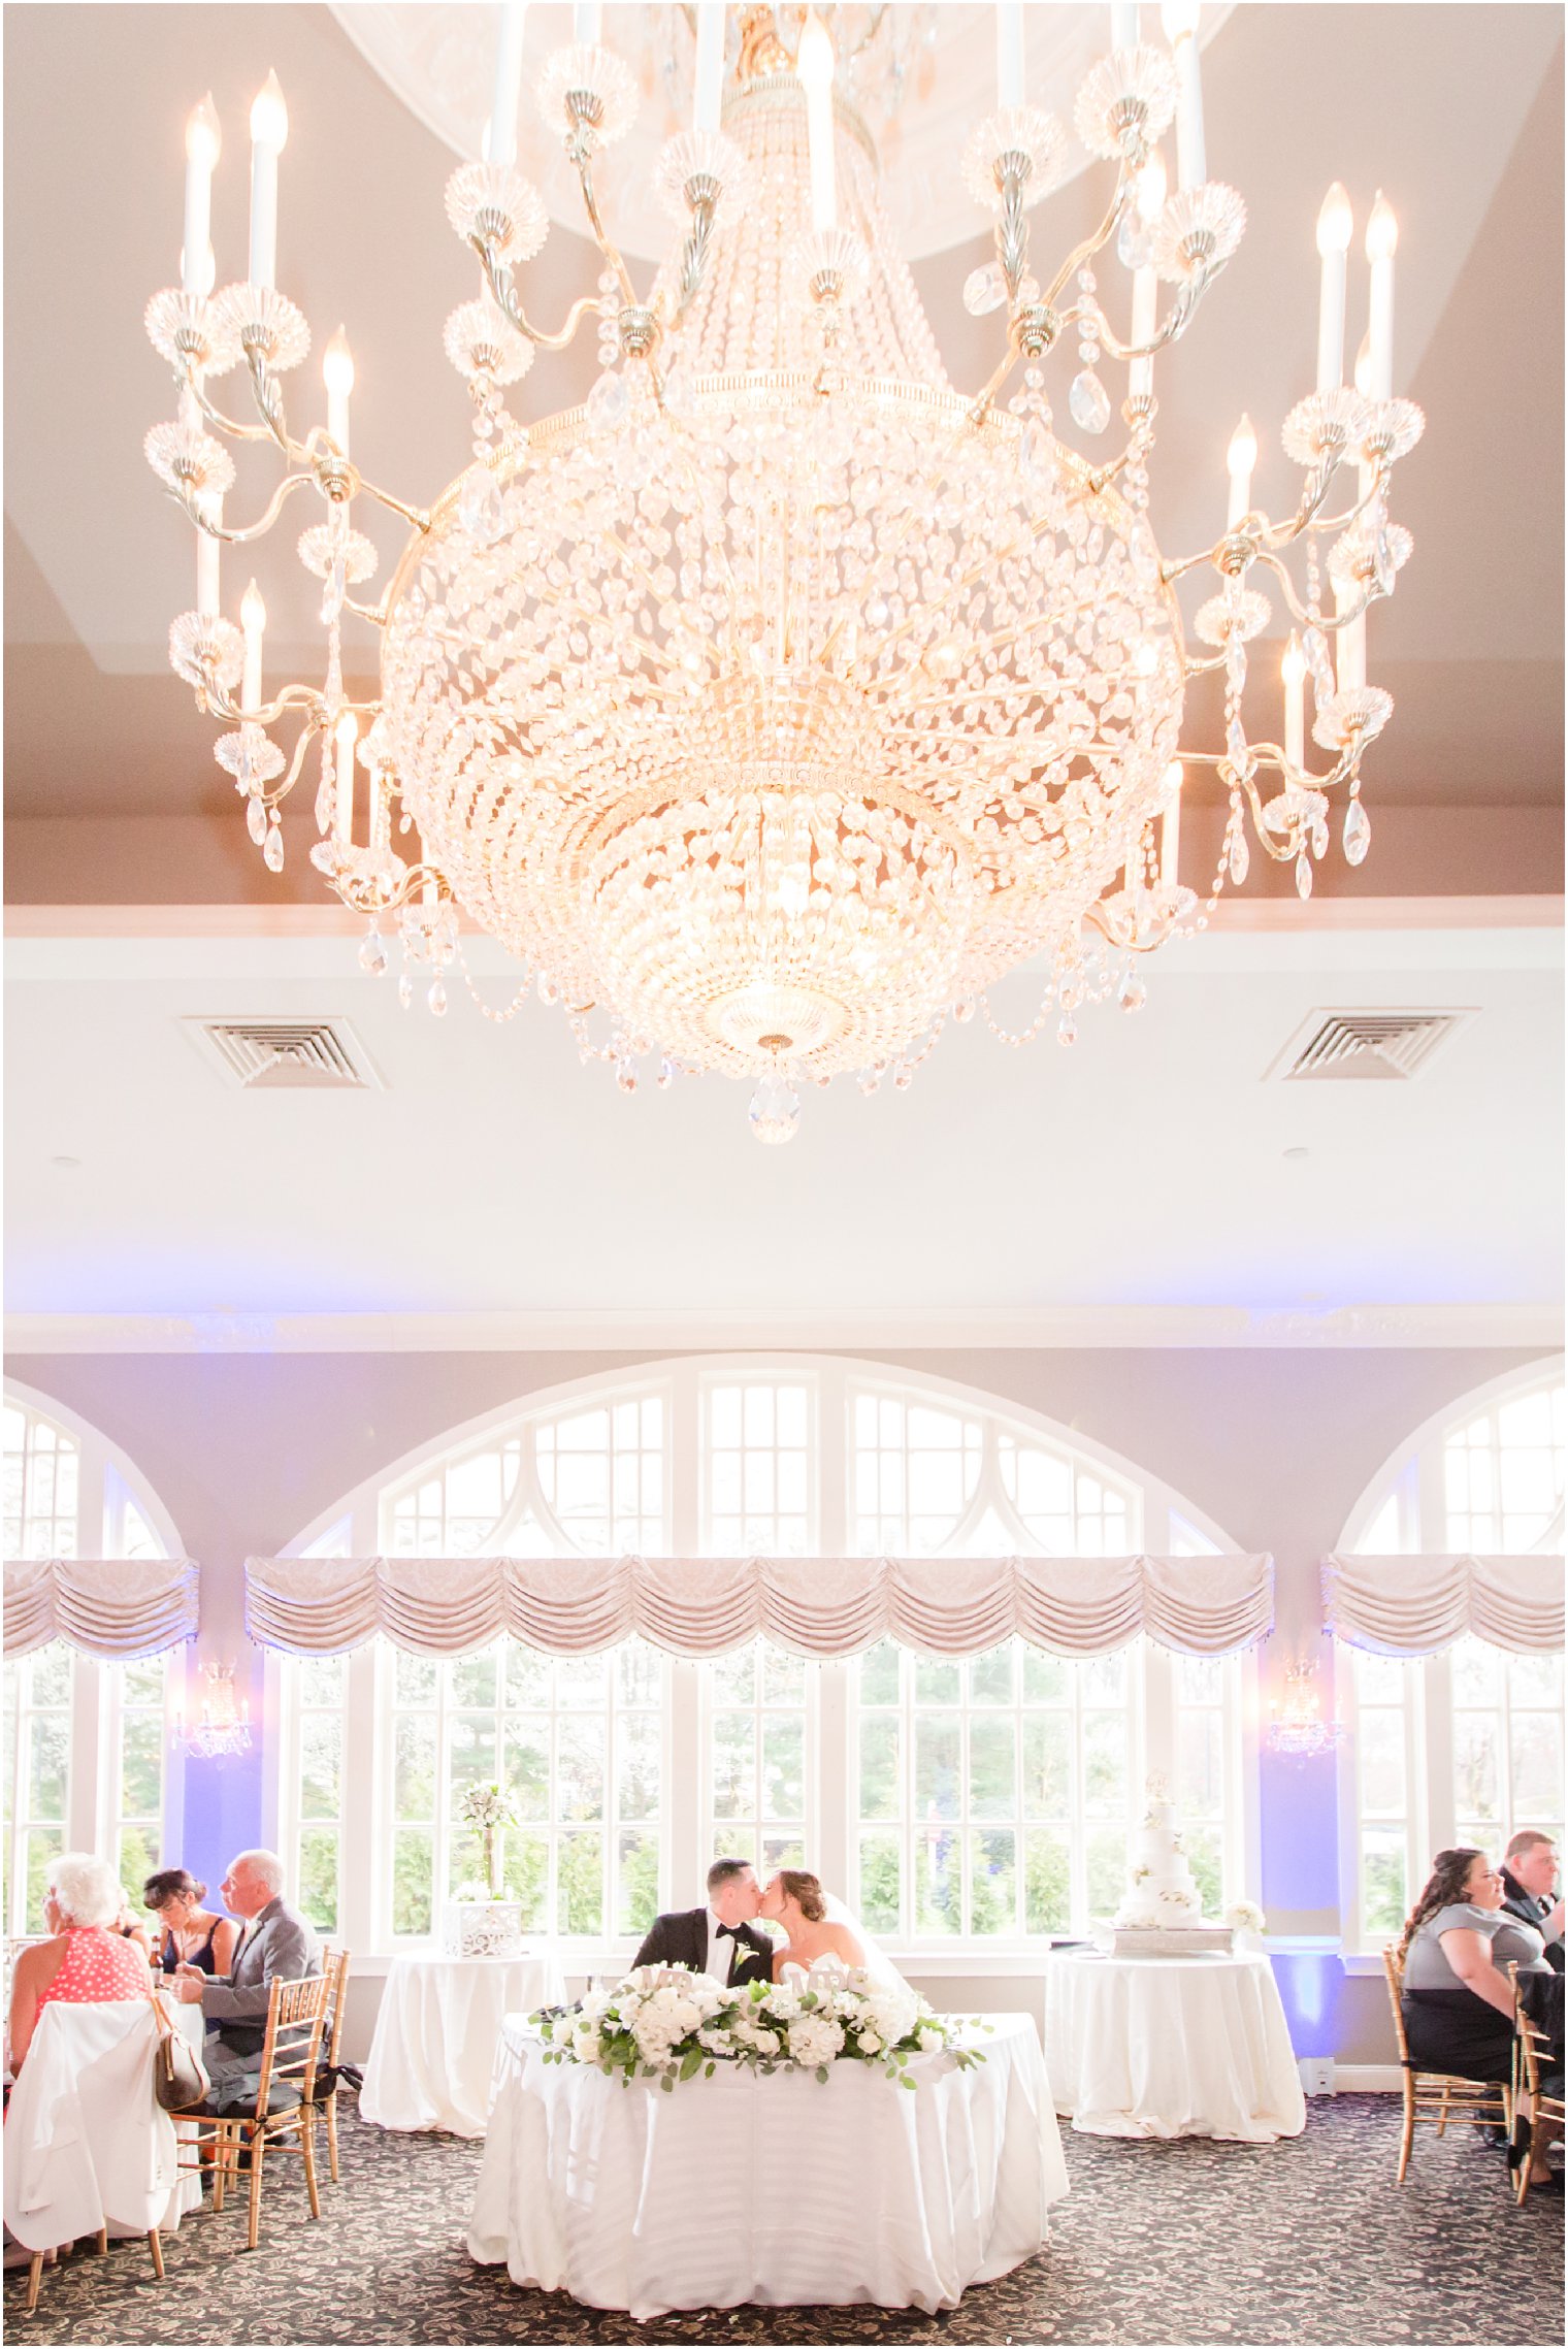
[[[864,1971],[723,1987],[685,1966],[641,1966],[575,2006],[542,2008],[533,2022],[545,2062],[587,2062],[620,2074],[622,2086],[657,2079],[660,2088],[674,2088],[699,2072],[709,2079],[721,2062],[826,2081],[836,2062],[873,2062],[913,2088],[913,2055],[946,2053],[958,2067],[984,2062],[981,2048],[962,2039],[981,2027],[976,2018],[937,2015],[915,1990]]]

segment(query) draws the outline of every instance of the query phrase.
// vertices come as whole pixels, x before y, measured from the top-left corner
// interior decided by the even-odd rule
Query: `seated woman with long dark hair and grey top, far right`
[[[1439,1851],[1399,1943],[1404,2032],[1411,2062],[1460,2079],[1505,2081],[1514,2067],[1514,1990],[1521,1973],[1549,1973],[1535,1926],[1502,1907],[1502,1875],[1469,1844]],[[1561,2067],[1563,2051],[1554,2048]],[[1530,2180],[1549,2178],[1547,2149]]]

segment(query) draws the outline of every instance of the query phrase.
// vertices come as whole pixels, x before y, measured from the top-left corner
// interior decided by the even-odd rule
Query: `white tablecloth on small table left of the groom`
[[[484,2138],[502,2020],[563,1997],[554,1957],[394,1957],[359,2091],[361,2119]]]

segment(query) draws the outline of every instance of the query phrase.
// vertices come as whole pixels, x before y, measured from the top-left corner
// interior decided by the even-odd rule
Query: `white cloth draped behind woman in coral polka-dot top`
[[[174,2015],[200,2030],[197,2006]],[[155,2048],[148,1999],[40,2011],[5,2116],[5,2225],[28,2250],[101,2227],[167,2234],[200,2208],[202,2180],[178,2170],[174,2121],[153,2095]]]

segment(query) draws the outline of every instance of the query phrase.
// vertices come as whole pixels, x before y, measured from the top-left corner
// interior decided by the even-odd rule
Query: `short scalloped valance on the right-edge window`
[[[1380,1656],[1432,1656],[1467,1633],[1519,1656],[1563,1644],[1561,1557],[1324,1557],[1324,1623]]]

